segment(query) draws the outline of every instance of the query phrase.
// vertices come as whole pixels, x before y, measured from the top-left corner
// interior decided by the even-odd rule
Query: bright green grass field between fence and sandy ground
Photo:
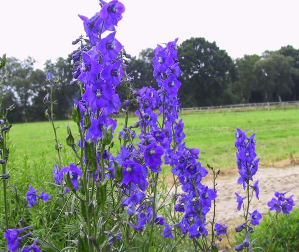
[[[271,110],[246,112],[217,112],[182,115],[186,144],[199,147],[203,165],[209,163],[215,168],[234,168],[234,147],[236,127],[256,132],[257,154],[260,163],[267,166],[272,162],[287,159],[290,153],[299,156],[299,110]],[[118,128],[122,129],[124,118],[117,118]],[[129,123],[137,121],[131,118]],[[64,155],[71,150],[65,143],[67,121],[55,122],[59,141],[63,144]],[[77,135],[75,124],[70,121],[72,132]],[[54,134],[49,122],[15,124],[9,131],[10,146],[14,155],[22,158],[27,154],[28,161],[44,158],[49,163],[57,161],[54,148]],[[117,153],[119,142],[115,137],[114,152]],[[66,158],[67,159],[67,158]],[[68,160],[68,159],[67,159]],[[65,163],[64,165],[67,165]]]

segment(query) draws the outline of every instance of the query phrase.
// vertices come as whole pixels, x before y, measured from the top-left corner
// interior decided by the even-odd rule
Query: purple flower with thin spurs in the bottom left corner
[[[4,238],[7,240],[7,250],[10,250],[11,252],[18,251],[21,247],[20,242],[35,231],[29,232],[21,237],[19,237],[19,234],[32,227],[33,225],[21,229],[7,229],[4,232]]]

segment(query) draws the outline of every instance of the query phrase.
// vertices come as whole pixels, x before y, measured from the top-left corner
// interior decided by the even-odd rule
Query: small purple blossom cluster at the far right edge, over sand
[[[267,203],[268,207],[270,207],[270,211],[275,210],[277,213],[283,212],[284,214],[290,214],[293,210],[294,200],[293,196],[285,197],[288,192],[280,193],[276,192],[274,195],[276,198],[272,198],[271,201]]]

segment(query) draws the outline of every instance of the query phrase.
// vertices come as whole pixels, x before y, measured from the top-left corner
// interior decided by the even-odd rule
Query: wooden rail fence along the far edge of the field
[[[212,107],[195,107],[195,108],[180,108],[181,112],[186,111],[209,111],[209,110],[222,110],[222,109],[238,109],[238,108],[263,108],[270,110],[272,106],[280,106],[284,108],[287,105],[295,105],[299,109],[299,101],[292,102],[273,102],[273,103],[245,103],[245,104],[234,104],[234,105],[223,105],[223,106],[212,106]]]

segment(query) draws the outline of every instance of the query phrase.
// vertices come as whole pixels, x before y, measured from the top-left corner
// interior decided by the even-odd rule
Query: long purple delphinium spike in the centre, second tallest
[[[147,94],[145,98],[149,101],[144,113],[150,115],[152,110],[157,108],[162,115],[161,125],[153,125],[151,120],[151,125],[147,126],[164,148],[165,164],[172,166],[171,172],[178,177],[184,192],[175,196],[178,202],[174,205],[176,212],[183,213],[182,219],[171,227],[178,227],[182,234],[189,234],[190,238],[199,238],[208,234],[205,217],[217,195],[216,191],[201,183],[202,177],[205,177],[208,171],[198,161],[199,149],[188,148],[183,142],[184,124],[178,118],[180,104],[177,93],[181,83],[177,79],[180,68],[176,43],[177,39],[168,42],[164,47],[157,45],[154,49],[153,74],[160,89],[156,93],[151,89],[143,92],[144,96]],[[152,98],[155,100],[152,101]],[[165,225],[163,236],[172,239],[170,226]]]

